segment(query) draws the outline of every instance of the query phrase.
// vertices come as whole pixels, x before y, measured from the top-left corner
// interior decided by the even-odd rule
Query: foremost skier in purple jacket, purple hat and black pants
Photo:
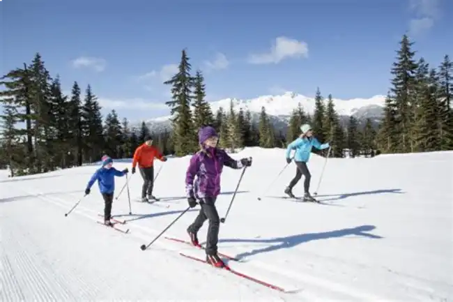
[[[223,267],[222,259],[217,255],[220,218],[215,208],[215,200],[220,194],[220,176],[225,166],[232,169],[241,169],[252,165],[252,158],[233,160],[227,152],[217,148],[219,136],[210,126],[200,128],[198,132],[201,150],[190,159],[185,177],[185,188],[189,206],[197,206],[197,199],[201,209],[192,225],[187,228],[190,240],[194,246],[200,246],[197,238],[199,229],[206,219],[209,220],[208,238],[206,240],[206,262],[216,267]],[[195,179],[197,176],[197,179]]]

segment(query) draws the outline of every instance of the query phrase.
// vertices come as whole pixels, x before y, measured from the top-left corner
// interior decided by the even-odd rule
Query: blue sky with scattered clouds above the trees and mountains
[[[447,0],[1,2],[2,74],[40,52],[65,91],[91,84],[104,112],[131,120],[168,114],[162,82],[183,48],[209,100],[385,94],[404,33],[433,66],[453,55]]]

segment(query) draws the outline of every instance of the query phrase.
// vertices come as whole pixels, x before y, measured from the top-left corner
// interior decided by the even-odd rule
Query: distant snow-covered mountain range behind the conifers
[[[313,114],[314,112],[314,98],[309,98],[298,93],[288,91],[278,96],[259,96],[249,100],[242,100],[238,98],[224,98],[210,103],[213,112],[217,112],[220,107],[224,110],[229,110],[230,102],[236,111],[240,108],[243,110],[250,110],[252,113],[253,121],[258,121],[261,107],[266,108],[266,113],[269,115],[273,125],[279,129],[286,131],[289,121],[289,115],[292,110],[302,105],[305,112]],[[353,98],[351,100],[341,100],[334,98],[335,110],[339,114],[341,121],[346,123],[349,116],[355,116],[361,123],[367,118],[370,118],[374,124],[378,123],[381,119],[381,114],[385,102],[385,96],[373,96],[371,98]],[[153,133],[160,133],[164,130],[171,128],[169,121],[171,116],[161,116],[155,119],[149,119],[146,125]]]

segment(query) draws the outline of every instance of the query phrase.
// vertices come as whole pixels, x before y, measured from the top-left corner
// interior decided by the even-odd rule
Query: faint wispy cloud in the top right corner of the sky
[[[431,29],[440,17],[439,0],[409,0],[414,17],[409,20],[409,35],[420,36]]]

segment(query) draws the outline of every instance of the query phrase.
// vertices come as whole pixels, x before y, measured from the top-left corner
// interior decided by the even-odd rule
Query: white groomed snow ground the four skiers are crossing
[[[141,178],[130,177],[132,216],[126,191],[113,206],[129,234],[95,223],[103,210],[97,184],[63,215],[96,167],[14,179],[2,172],[0,301],[453,301],[453,152],[329,159],[318,192],[325,204],[277,198],[295,170],[292,164],[270,186],[286,164],[284,150],[231,156],[254,162],[220,226],[219,250],[243,258],[229,262],[233,269],[289,293],[181,257],[204,251],[164,236],[187,239],[198,208],[140,250],[187,209],[186,156],[155,163],[156,171],[164,165],[154,190],[160,204],[135,201]],[[324,163],[318,156],[309,162],[312,192]],[[239,176],[224,169],[220,217]],[[124,183],[117,179],[116,195]]]

